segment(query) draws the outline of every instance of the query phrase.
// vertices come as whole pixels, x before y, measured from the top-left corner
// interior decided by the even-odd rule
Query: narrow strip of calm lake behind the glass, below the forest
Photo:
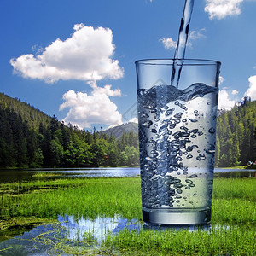
[[[44,172],[45,176],[38,176]],[[139,176],[138,167],[115,168],[38,168],[38,169],[1,169],[0,182],[14,183],[38,179],[58,179],[77,177],[136,177]],[[215,177],[255,177],[255,170],[215,168]]]

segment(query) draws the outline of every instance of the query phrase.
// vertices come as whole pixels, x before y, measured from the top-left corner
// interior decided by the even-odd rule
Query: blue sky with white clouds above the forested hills
[[[184,0],[1,0],[0,92],[80,128],[136,118],[134,61],[172,58]],[[256,100],[256,0],[195,0],[186,58],[222,62],[219,108]]]

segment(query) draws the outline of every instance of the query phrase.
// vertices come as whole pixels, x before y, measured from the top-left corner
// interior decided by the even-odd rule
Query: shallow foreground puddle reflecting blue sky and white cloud
[[[21,236],[3,241],[0,243],[1,255],[73,255],[67,253],[74,250],[89,252],[98,250],[102,241],[108,234],[117,235],[119,231],[124,230],[189,230],[196,232],[204,230],[208,233],[212,229],[224,228],[229,230],[229,226],[161,226],[144,224],[137,219],[128,220],[119,215],[113,218],[97,217],[95,219],[73,218],[73,216],[58,216],[59,224],[42,225],[24,232]],[[78,251],[76,251],[78,252]],[[87,255],[87,253],[82,255]],[[94,251],[95,253],[95,251]],[[98,253],[94,255],[99,255]]]

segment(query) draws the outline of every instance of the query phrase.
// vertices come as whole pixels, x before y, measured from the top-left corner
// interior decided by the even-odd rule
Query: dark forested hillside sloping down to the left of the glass
[[[0,167],[138,165],[138,138],[68,127],[55,116],[0,94]]]

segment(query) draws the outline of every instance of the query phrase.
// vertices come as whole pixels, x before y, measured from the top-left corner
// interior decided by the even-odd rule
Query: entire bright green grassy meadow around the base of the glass
[[[255,178],[215,178],[210,230],[124,229],[115,235],[107,234],[93,252],[91,247],[86,250],[96,255],[253,255],[255,188]],[[139,177],[2,183],[0,205],[3,239],[9,238],[14,226],[55,222],[58,215],[65,214],[91,219],[118,214],[142,221]],[[85,235],[81,243],[88,245],[93,234]],[[70,255],[84,255],[81,243],[79,247],[69,244]],[[57,252],[67,253],[66,249],[60,246]]]

